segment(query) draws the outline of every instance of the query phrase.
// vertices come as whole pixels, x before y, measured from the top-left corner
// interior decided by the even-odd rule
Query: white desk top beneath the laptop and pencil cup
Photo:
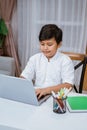
[[[22,130],[87,130],[87,113],[56,114],[52,97],[41,106],[0,98],[0,125]]]

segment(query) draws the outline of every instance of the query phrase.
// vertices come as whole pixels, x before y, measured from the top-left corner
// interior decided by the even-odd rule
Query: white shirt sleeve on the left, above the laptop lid
[[[33,80],[35,75],[35,61],[34,58],[30,58],[25,69],[21,73],[21,76],[28,80]]]

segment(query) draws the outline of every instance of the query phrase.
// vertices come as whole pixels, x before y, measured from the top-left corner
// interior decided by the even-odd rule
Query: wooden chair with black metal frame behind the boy
[[[75,91],[77,93],[82,93],[84,76],[85,76],[85,70],[86,70],[86,64],[87,64],[87,55],[80,54],[80,53],[72,53],[72,52],[62,52],[62,53],[68,55],[72,60],[79,61],[79,63],[77,63],[74,66],[75,70],[77,70],[80,66],[82,66],[81,76],[80,76],[80,83],[79,83],[79,89],[77,90],[76,85],[74,85]]]

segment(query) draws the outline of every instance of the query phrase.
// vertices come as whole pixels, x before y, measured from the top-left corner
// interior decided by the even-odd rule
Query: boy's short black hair
[[[57,44],[62,41],[62,30],[55,24],[46,24],[41,28],[39,41],[55,38]]]

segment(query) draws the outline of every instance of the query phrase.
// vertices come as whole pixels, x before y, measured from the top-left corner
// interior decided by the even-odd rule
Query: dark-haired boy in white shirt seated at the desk
[[[62,44],[62,30],[54,24],[47,24],[40,31],[39,41],[41,53],[29,59],[21,74],[22,78],[35,81],[38,99],[74,84],[72,61],[58,51]]]

